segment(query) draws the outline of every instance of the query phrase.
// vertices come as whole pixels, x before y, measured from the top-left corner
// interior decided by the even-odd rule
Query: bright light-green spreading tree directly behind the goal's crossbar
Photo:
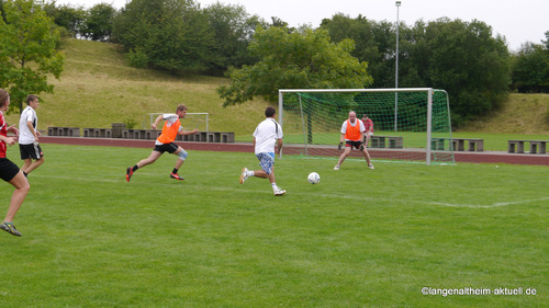
[[[327,31],[301,27],[289,33],[285,27],[259,27],[249,52],[259,61],[242,69],[229,69],[229,85],[217,92],[224,106],[242,104],[255,95],[274,102],[279,89],[336,89],[370,85],[367,62],[350,55],[350,39],[329,41]]]

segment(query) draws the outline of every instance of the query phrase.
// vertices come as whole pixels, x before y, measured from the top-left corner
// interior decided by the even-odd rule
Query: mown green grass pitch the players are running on
[[[149,149],[43,145],[0,233],[7,307],[547,307],[547,167],[277,160],[189,151],[186,181]],[[16,160],[10,148],[8,156]],[[311,171],[317,185],[306,182]],[[12,189],[3,183],[7,210]],[[2,214],[3,215],[3,214]],[[423,295],[422,288],[537,295]],[[546,304],[544,304],[546,303]]]

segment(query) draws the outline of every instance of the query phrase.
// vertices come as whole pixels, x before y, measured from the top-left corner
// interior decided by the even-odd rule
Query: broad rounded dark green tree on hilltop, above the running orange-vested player
[[[133,0],[115,18],[115,39],[149,66],[202,71],[210,67],[213,31],[191,0]]]

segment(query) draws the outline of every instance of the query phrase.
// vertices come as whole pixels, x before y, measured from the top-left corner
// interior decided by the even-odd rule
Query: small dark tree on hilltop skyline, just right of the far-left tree
[[[116,10],[107,3],[93,5],[86,14],[80,34],[92,41],[109,42],[112,35],[112,23]]]

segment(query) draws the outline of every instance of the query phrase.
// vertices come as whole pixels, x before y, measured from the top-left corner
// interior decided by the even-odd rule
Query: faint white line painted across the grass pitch
[[[156,174],[156,173],[147,173],[147,172],[141,172],[139,174],[146,175],[146,174]],[[57,176],[57,175],[38,175],[36,174],[36,178],[48,178],[48,179],[60,179],[60,180],[75,180],[71,176]],[[111,175],[112,176],[112,175]],[[114,176],[112,179],[105,179],[105,178],[100,178],[100,179],[94,179],[94,178],[80,178],[78,181],[91,181],[91,182],[105,182],[105,183],[122,183],[125,181],[124,175],[119,175],[116,179]],[[268,185],[265,186],[265,190],[246,190],[246,189],[240,189],[242,185],[237,184],[238,182],[235,180],[235,183],[237,187],[234,186],[217,186],[217,187],[212,187],[212,186],[197,186],[193,185],[194,189],[203,189],[209,190],[209,191],[217,191],[217,192],[243,192],[243,193],[265,193],[265,194],[272,194],[270,187]],[[32,183],[31,183],[32,184]],[[128,183],[128,185],[131,185]],[[165,183],[146,183],[147,186],[164,186],[166,185]],[[301,193],[301,192],[294,192],[294,191],[288,191],[288,195],[310,195],[310,193]],[[494,207],[502,207],[502,206],[511,206],[511,205],[520,205],[520,204],[529,204],[529,203],[537,203],[537,202],[548,202],[549,196],[547,197],[541,197],[541,198],[534,198],[534,199],[520,199],[520,201],[511,201],[511,202],[496,202],[493,204],[452,204],[452,203],[444,203],[444,202],[424,202],[424,201],[414,201],[414,199],[396,199],[396,198],[378,198],[378,197],[365,197],[365,196],[350,196],[350,195],[336,195],[336,194],[315,194],[315,196],[320,196],[323,198],[335,198],[335,199],[347,199],[347,201],[372,201],[372,202],[384,202],[384,203],[391,203],[391,202],[402,202],[402,203],[414,203],[414,204],[423,204],[423,205],[436,205],[436,206],[446,206],[446,207],[469,207],[469,208],[494,208]]]

